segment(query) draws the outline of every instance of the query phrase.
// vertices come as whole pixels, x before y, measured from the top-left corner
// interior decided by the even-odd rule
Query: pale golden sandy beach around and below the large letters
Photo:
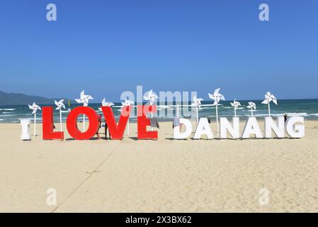
[[[161,122],[157,141],[136,123],[121,141],[45,141],[38,124],[23,142],[1,123],[0,212],[317,212],[318,121],[305,125],[301,139],[172,140]]]

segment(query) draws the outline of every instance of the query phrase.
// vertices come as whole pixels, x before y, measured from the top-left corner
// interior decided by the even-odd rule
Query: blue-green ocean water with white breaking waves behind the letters
[[[239,101],[239,100],[238,100]],[[258,118],[263,118],[264,116],[268,116],[268,107],[267,105],[261,104],[262,100],[254,100],[256,103],[256,111],[254,111],[254,116]],[[237,116],[244,119],[248,116],[251,116],[251,111],[246,108],[248,106],[248,101],[240,101],[242,106],[237,110]],[[203,106],[198,110],[199,117],[215,117],[215,106],[205,106],[211,104],[210,101],[203,101]],[[40,104],[39,104],[40,105]],[[40,106],[48,106],[48,105],[40,105]],[[54,104],[51,106],[56,107]],[[76,106],[80,106],[79,104],[72,104],[71,109]],[[98,114],[102,114],[101,111],[98,110],[101,107],[101,104],[89,104],[89,106],[95,109]],[[115,103],[113,106],[113,113],[115,114],[115,118],[120,116],[120,103]],[[157,106],[158,113],[155,114],[159,121],[169,121],[174,116],[176,116],[176,106],[174,104],[168,106]],[[130,121],[137,120],[137,108],[133,108]],[[230,101],[221,101],[220,106],[218,106],[219,116],[225,116],[227,118],[232,118],[234,116],[234,109],[230,105]],[[62,121],[65,122],[67,119],[67,109],[62,112]],[[271,103],[271,116],[283,116],[284,114],[288,114],[288,116],[304,116],[305,119],[310,120],[318,120],[318,99],[285,99],[278,100],[278,106]],[[55,122],[59,122],[59,111],[54,112]],[[182,111],[181,107],[179,107],[179,116],[183,116],[186,118],[196,118],[196,108],[183,106]],[[0,123],[19,123],[21,118],[30,118],[33,119],[32,111],[28,108],[28,105],[0,105]],[[42,121],[42,112],[37,112],[37,121]],[[81,121],[81,117],[79,117],[79,121]]]

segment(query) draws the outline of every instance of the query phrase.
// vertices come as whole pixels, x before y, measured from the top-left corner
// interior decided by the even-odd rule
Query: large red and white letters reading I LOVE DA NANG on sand
[[[101,106],[101,111],[105,118],[110,137],[113,140],[122,140],[124,137],[127,122],[132,111],[132,106],[123,106],[118,121],[115,120],[111,106]],[[158,131],[149,130],[150,119],[147,114],[155,114],[157,106],[138,105],[137,106],[137,139],[138,140],[157,140]],[[80,131],[78,128],[79,116],[85,115],[89,121],[86,131]],[[193,133],[193,124],[188,118],[178,118],[178,125],[172,129],[174,139],[181,140],[191,137]],[[220,118],[220,135],[215,135],[212,131],[208,118],[200,118],[193,135],[193,139],[200,138],[302,138],[305,136],[304,117],[292,116],[285,121],[283,116],[276,119],[271,116],[263,118],[264,128],[261,131],[259,121],[256,117],[249,117],[244,123],[244,128],[240,128],[239,117],[233,117],[232,122],[225,117]],[[23,131],[29,127],[28,123],[21,123]],[[89,140],[96,135],[101,121],[94,109],[89,106],[79,106],[69,112],[67,116],[67,132],[75,140]],[[182,128],[182,130],[181,130]],[[42,139],[43,140],[64,140],[64,131],[55,131],[53,122],[53,107],[42,107]]]

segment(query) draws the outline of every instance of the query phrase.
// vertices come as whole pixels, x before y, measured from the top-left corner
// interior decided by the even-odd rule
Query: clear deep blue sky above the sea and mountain
[[[57,5],[57,21],[46,6]],[[259,5],[270,21],[259,21]],[[318,98],[318,1],[1,1],[0,90]]]

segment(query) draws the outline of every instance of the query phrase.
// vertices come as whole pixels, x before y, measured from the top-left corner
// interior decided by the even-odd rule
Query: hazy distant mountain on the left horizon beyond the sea
[[[36,104],[54,104],[55,99],[47,99],[41,96],[33,96],[22,93],[6,93],[0,91],[0,105],[18,105],[18,104],[32,104],[35,102]],[[57,101],[59,99],[56,99]],[[65,99],[66,101],[68,99]],[[71,100],[71,103],[74,103]],[[67,102],[65,102],[67,104]]]

